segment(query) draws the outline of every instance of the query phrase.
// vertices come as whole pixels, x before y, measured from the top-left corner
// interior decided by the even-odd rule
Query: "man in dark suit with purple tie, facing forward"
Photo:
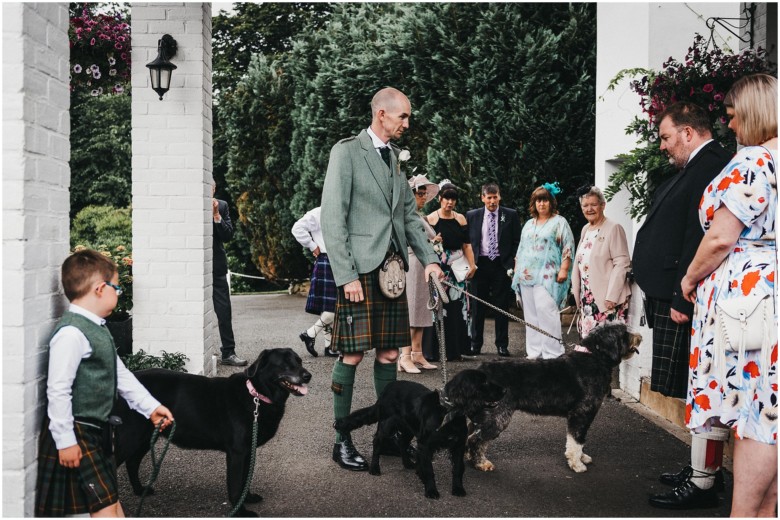
[[[520,244],[520,217],[517,211],[499,206],[501,193],[495,183],[482,186],[482,202],[484,208],[466,213],[469,239],[477,257],[477,273],[472,279],[474,293],[477,298],[506,310],[511,293],[511,270]],[[485,329],[485,305],[476,302],[474,309],[471,355],[481,353]],[[499,313],[496,314],[496,348],[499,356],[509,356],[509,319]]]

